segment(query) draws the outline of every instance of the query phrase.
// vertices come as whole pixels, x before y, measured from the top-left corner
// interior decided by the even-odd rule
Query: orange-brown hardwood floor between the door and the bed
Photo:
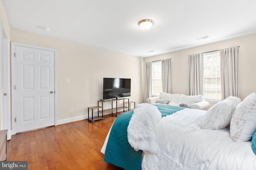
[[[26,160],[29,170],[122,170],[104,162],[100,152],[116,116],[104,118],[13,135],[7,160]]]

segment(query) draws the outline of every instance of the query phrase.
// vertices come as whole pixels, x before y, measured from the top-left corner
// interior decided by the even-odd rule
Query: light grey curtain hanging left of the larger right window
[[[203,95],[204,56],[203,53],[189,55],[189,95]]]

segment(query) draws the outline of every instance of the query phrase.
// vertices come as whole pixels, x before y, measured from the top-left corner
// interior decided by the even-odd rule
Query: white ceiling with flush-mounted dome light
[[[149,57],[256,33],[256,0],[2,0],[10,27]],[[143,31],[140,20],[154,21]],[[46,32],[42,27],[49,27]],[[197,41],[197,38],[209,36]],[[153,51],[153,52],[149,52]]]

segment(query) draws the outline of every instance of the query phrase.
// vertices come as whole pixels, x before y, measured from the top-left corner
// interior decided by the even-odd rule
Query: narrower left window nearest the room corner
[[[162,63],[152,62],[152,96],[159,96],[162,92]]]

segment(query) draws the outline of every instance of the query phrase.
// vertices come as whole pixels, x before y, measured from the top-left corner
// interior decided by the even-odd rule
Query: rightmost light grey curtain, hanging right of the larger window
[[[239,97],[238,87],[239,47],[220,49],[220,84],[222,100]]]

